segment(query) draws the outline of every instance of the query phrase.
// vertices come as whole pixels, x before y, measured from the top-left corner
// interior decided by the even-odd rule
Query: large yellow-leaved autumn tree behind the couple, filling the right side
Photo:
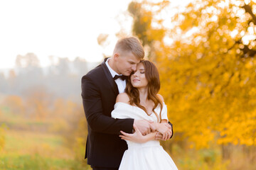
[[[160,15],[168,4],[132,2],[129,12],[159,67],[175,132],[196,148],[256,145],[255,2],[192,1],[171,29]]]

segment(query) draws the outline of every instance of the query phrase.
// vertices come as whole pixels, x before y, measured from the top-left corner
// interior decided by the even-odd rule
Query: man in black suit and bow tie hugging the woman
[[[82,77],[82,103],[88,125],[85,159],[94,170],[118,169],[127,143],[120,130],[132,133],[134,125],[143,135],[154,127],[146,120],[114,119],[111,112],[119,93],[123,93],[129,74],[144,58],[144,49],[137,38],[122,38],[107,58]]]

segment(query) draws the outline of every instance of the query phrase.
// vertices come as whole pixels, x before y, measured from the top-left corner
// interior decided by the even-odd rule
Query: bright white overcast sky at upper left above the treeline
[[[0,69],[14,67],[16,56],[28,52],[35,53],[43,66],[50,55],[101,61],[103,52],[112,54],[119,21],[125,22],[127,33],[131,29],[132,18],[122,14],[130,1],[0,1]],[[100,33],[110,35],[106,49],[97,44]]]

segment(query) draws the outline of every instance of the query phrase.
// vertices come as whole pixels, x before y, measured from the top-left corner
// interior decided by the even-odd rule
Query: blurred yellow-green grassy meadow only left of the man
[[[84,142],[75,149],[68,144],[56,130],[63,128],[58,120],[24,118],[4,107],[0,120],[0,169],[90,169],[83,159]]]

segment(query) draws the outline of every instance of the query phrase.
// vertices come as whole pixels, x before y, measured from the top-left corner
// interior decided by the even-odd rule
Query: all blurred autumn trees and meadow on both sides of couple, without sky
[[[256,169],[255,1],[171,5],[127,8],[174,124],[164,149],[178,169]],[[97,40],[105,47],[107,35]],[[80,78],[96,63],[51,59],[42,69],[35,54],[18,55],[9,76],[0,74],[1,169],[89,169]]]

